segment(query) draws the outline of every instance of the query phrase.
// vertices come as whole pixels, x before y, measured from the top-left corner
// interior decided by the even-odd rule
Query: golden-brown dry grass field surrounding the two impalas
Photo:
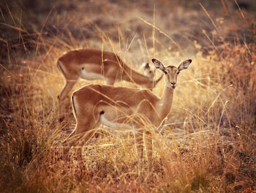
[[[0,192],[256,192],[255,1],[1,1]],[[68,50],[143,62],[192,59],[181,72],[153,173],[143,181],[132,133],[99,126],[83,165],[61,159],[75,128],[70,100],[58,121]],[[156,78],[161,75],[157,72]],[[80,80],[75,88],[101,80]],[[140,88],[121,81],[116,86]],[[154,94],[161,96],[164,80]]]

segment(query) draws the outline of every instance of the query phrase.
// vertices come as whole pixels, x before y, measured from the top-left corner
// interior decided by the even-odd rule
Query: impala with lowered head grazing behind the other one
[[[116,81],[127,80],[150,89],[154,88],[162,78],[159,77],[154,81],[154,73],[150,71],[148,64],[145,69],[148,69],[149,76],[141,75],[124,64],[124,61],[115,53],[89,48],[65,53],[58,59],[57,67],[66,80],[65,86],[58,96],[60,114],[64,112],[62,103],[65,96],[80,78],[105,80],[108,85],[113,85]],[[64,116],[59,121],[62,121],[63,118]]]

